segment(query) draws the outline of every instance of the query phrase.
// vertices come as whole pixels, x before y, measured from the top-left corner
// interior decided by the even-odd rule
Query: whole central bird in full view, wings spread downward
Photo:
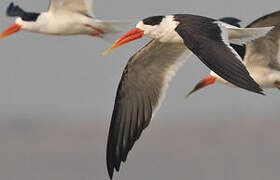
[[[229,42],[242,44],[266,35],[273,27],[237,28],[187,14],[153,16],[140,21],[113,46],[148,36],[153,40],[128,61],[118,86],[107,142],[107,169],[112,178],[155,116],[168,82],[194,53],[206,66],[238,87],[262,94]]]

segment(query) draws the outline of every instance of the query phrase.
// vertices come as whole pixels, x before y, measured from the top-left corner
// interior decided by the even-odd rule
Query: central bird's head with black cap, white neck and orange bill
[[[139,21],[136,27],[123,36],[121,36],[110,49],[104,52],[109,53],[111,50],[126,44],[128,42],[147,36],[160,42],[182,42],[174,29],[179,22],[174,20],[174,16],[152,16]]]

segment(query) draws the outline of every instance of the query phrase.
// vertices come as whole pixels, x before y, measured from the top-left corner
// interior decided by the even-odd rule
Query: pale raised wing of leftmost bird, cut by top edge
[[[93,17],[92,0],[50,0],[48,11],[74,11]]]

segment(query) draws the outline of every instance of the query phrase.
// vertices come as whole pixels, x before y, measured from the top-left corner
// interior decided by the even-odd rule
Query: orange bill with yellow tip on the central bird
[[[134,29],[130,30],[129,32],[127,32],[126,34],[121,36],[117,41],[115,41],[115,43],[112,45],[112,47],[107,49],[103,53],[103,55],[108,54],[110,51],[112,51],[113,49],[115,49],[123,44],[126,44],[130,41],[134,41],[136,39],[142,38],[143,34],[144,34],[144,31],[139,28],[134,28]]]

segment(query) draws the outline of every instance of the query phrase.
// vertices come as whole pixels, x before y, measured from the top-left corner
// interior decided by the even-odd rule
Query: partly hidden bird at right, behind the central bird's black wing
[[[260,17],[250,23],[247,28],[265,26],[274,26],[274,29],[265,37],[247,43],[246,47],[237,46],[239,48],[237,52],[260,87],[280,89],[280,11]],[[202,79],[186,97],[215,82],[236,87],[211,71],[210,75]]]

